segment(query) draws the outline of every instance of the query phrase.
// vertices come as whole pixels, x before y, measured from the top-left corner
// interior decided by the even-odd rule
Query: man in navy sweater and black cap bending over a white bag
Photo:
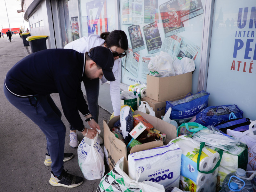
[[[112,52],[102,46],[86,53],[71,49],[47,49],[23,58],[6,74],[4,94],[7,100],[37,124],[46,136],[44,164],[51,166],[51,185],[74,188],[83,183],[83,178],[64,170],[63,162],[74,155],[64,153],[66,127],[50,94],[59,93],[68,122],[85,137],[93,139],[100,126],[88,109],[80,82],[84,78],[101,79],[103,75],[108,81],[115,81],[113,65]],[[92,129],[84,126],[78,110],[82,111],[85,122]],[[34,174],[40,173],[31,173],[31,177]]]

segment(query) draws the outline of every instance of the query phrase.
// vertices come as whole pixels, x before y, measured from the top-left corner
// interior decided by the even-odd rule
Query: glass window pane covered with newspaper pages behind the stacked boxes
[[[122,83],[146,84],[150,57],[161,51],[172,58],[189,57],[199,69],[204,3],[204,0],[120,0],[121,30],[129,42],[129,57],[122,64]],[[194,93],[198,69],[193,73]]]

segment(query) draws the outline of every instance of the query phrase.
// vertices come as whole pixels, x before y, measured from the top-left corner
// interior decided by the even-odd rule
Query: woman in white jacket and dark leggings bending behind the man
[[[71,43],[67,44],[64,49],[74,49],[78,52],[85,53],[96,46],[104,46],[109,48],[113,52],[115,59],[113,66],[113,73],[116,81],[110,82],[110,96],[112,106],[114,109],[114,116],[120,116],[120,82],[121,82],[121,57],[126,56],[128,50],[128,40],[124,31],[114,30],[112,32],[104,32],[99,35],[90,35],[89,37],[82,37]],[[107,82],[103,76],[101,79],[84,80],[84,87],[86,91],[86,97],[88,101],[89,111],[91,112],[94,120],[98,123],[99,117],[99,89],[101,84]],[[83,114],[84,115],[84,114]],[[72,148],[77,148],[79,142],[77,141],[76,130],[70,125],[70,142],[69,145]],[[97,142],[103,143],[103,140],[98,136]]]

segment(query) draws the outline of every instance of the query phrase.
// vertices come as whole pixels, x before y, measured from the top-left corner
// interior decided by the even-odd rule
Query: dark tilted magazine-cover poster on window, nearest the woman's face
[[[132,44],[132,51],[137,52],[145,49],[145,44],[141,35],[139,25],[131,25],[128,27],[129,36]]]

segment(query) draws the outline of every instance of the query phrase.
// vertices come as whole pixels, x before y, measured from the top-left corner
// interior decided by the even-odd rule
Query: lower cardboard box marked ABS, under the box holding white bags
[[[180,99],[185,98],[186,95],[182,95],[180,97],[177,97],[177,98],[174,98],[174,99],[170,99],[170,100],[167,100],[167,101],[180,100]],[[164,113],[165,113],[165,106],[166,106],[166,102],[165,101],[156,101],[156,100],[150,99],[149,97],[143,97],[143,98],[141,98],[141,101],[147,101],[148,105],[150,107],[152,107],[153,110],[155,111],[156,117],[162,119],[161,116],[164,116]]]

